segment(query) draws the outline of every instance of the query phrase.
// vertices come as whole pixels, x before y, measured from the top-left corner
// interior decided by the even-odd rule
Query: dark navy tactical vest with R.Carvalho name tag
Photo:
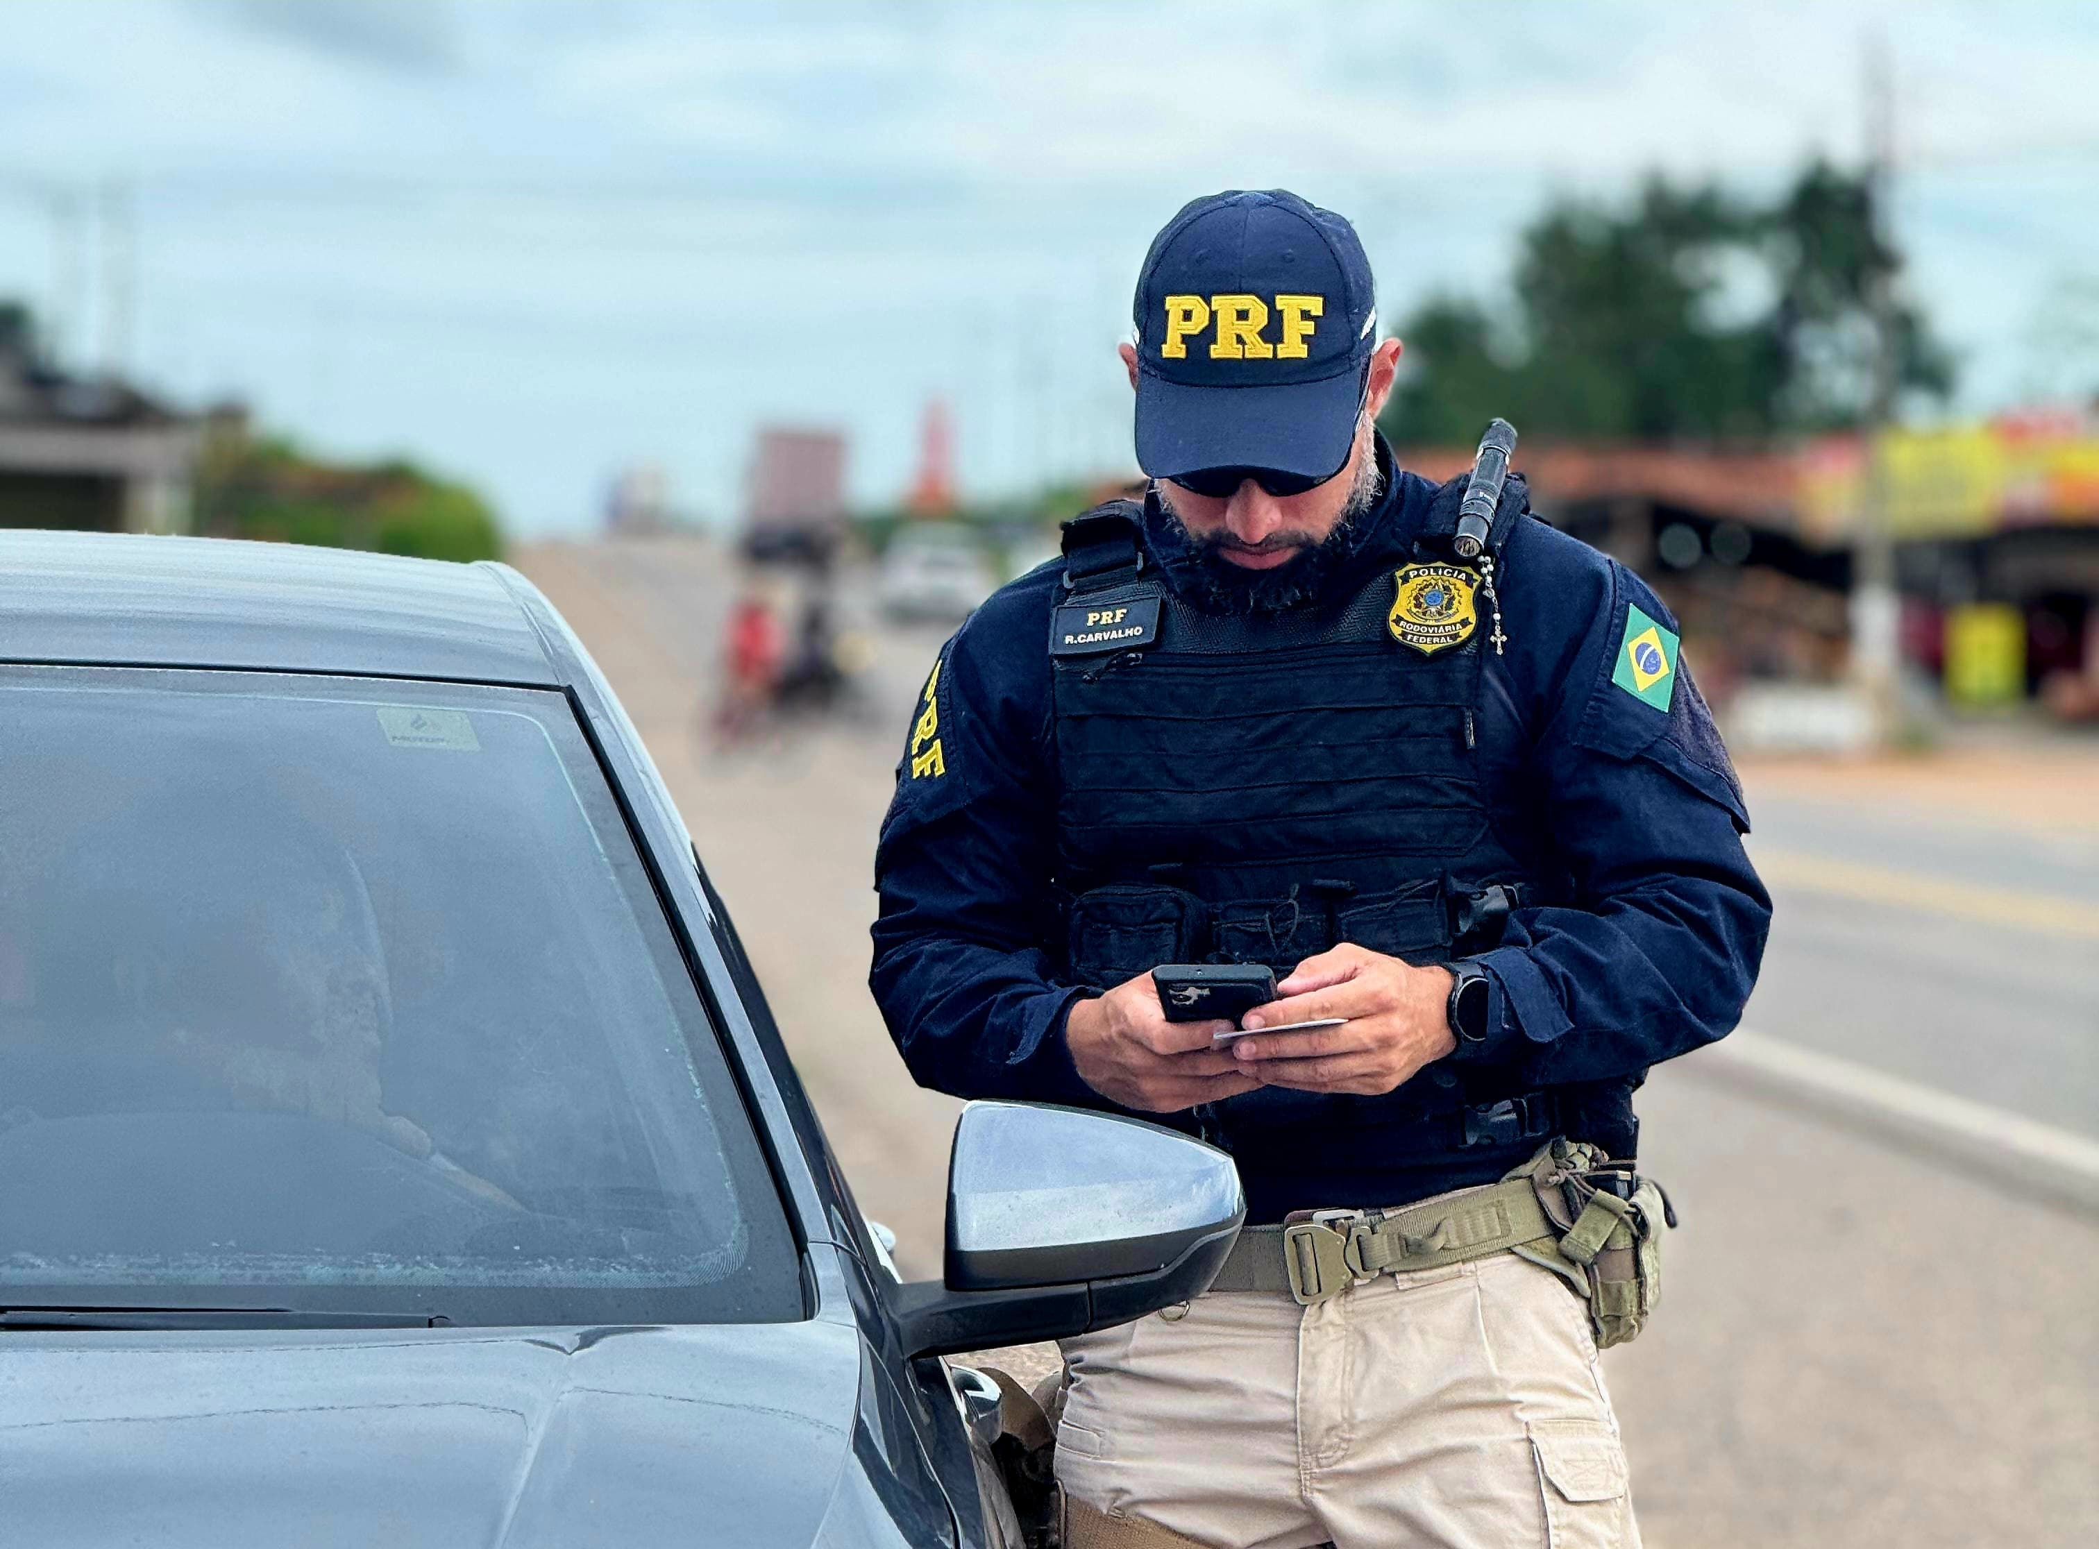
[[[1490,558],[1515,521],[1497,518]],[[1413,558],[1450,565],[1444,537]],[[1331,607],[1266,615],[1175,596],[1131,502],[1066,523],[1064,558],[1050,655],[1073,978],[1108,989],[1188,961],[1280,978],[1343,940],[1440,963],[1492,947],[1511,907],[1555,903],[1482,791],[1488,623],[1427,653],[1394,638],[1406,556]],[[1178,1123],[1232,1150],[1310,1127],[1320,1146],[1427,1157],[1536,1146],[1564,1129],[1562,1096],[1436,1064],[1383,1098],[1268,1087]]]

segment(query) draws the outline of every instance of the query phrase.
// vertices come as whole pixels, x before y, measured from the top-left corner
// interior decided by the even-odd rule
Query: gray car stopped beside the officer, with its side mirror
[[[0,533],[6,1543],[1014,1543],[940,1356],[1241,1219],[1194,1142],[972,1104],[898,1285],[529,581]]]

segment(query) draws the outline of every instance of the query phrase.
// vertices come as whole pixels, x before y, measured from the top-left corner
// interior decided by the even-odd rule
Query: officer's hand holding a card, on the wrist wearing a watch
[[[1341,1026],[1238,1039],[1232,1058],[1270,1087],[1379,1098],[1457,1047],[1450,970],[1415,968],[1343,942],[1306,957],[1245,1026],[1345,1016]]]

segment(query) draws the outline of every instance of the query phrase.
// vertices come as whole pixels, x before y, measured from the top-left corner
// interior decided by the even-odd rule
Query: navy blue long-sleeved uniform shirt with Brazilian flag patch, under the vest
[[[1406,552],[1436,489],[1392,481],[1329,581],[1337,596]],[[1154,502],[1146,546],[1173,583],[1186,556]],[[1612,680],[1629,607],[1675,630],[1637,575],[1539,521],[1518,523],[1499,573],[1507,651],[1484,659],[1482,774],[1503,844],[1564,877],[1560,896],[1578,907],[1518,909],[1476,959],[1494,986],[1492,1056],[1536,1085],[1637,1079],[1732,1031],[1755,984],[1769,896],[1742,852],[1748,812],[1681,661],[1667,712]],[[913,709],[919,730],[934,709],[940,756],[898,764],[875,854],[871,986],[921,1085],[1108,1108],[1064,1047],[1064,1016],[1087,991],[1060,982],[1047,949],[1060,940],[1047,651],[1060,577],[1043,565],[991,596]],[[1327,1196],[1293,1207],[1404,1203],[1356,1196],[1348,1157],[1320,1173]],[[1453,1159],[1408,1192],[1473,1182]],[[1259,1184],[1247,1180],[1249,1198]]]

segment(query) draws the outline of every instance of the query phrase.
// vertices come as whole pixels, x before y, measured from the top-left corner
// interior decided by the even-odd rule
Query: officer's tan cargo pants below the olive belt
[[[1217,1549],[1639,1545],[1587,1308],[1513,1253],[1207,1295],[1064,1366],[1066,1492]]]

